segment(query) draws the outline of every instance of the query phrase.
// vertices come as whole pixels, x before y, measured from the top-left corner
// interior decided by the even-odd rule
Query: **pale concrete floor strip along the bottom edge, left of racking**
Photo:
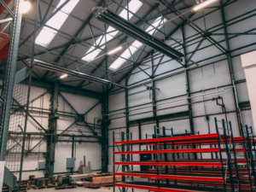
[[[60,192],[64,192],[64,191],[66,191],[66,192],[69,192],[69,191],[71,191],[71,192],[82,192],[82,191],[87,191],[87,192],[89,192],[89,191],[91,191],[91,192],[113,192],[113,188],[110,188],[110,189],[89,189],[89,188],[84,188],[84,187],[77,187],[77,188],[75,188],[75,189],[59,189],[59,190],[55,190],[54,188],[49,188],[49,189],[39,189],[39,190],[37,190],[37,189],[30,189],[29,190],[29,192],[58,192],[58,191],[60,191]],[[118,188],[116,188],[115,189],[115,192],[119,192],[119,189]],[[131,192],[131,189],[128,189],[127,190],[127,192]],[[141,189],[134,189],[134,192],[148,192],[148,190],[141,190]]]

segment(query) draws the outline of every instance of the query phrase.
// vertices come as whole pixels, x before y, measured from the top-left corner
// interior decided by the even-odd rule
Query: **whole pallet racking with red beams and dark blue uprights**
[[[215,119],[215,123],[217,133],[204,135],[166,137],[164,133],[164,137],[159,137],[159,135],[156,137],[156,128],[154,128],[153,138],[125,141],[125,133],[122,132],[122,141],[116,142],[114,141],[113,132],[113,146],[121,147],[119,151],[114,151],[113,147],[113,175],[123,177],[123,182],[114,183],[114,186],[148,189],[149,191],[226,192],[235,191],[236,188],[238,191],[252,191],[252,182],[255,180],[253,179],[255,175],[253,175],[253,178],[251,177],[253,169],[248,162],[253,159],[250,155],[251,159],[248,155],[245,155],[246,158],[236,159],[236,153],[247,154],[252,151],[252,149],[246,147],[245,143],[253,145],[255,143],[253,137],[233,137],[231,124],[230,130],[228,130],[231,131],[231,135],[227,135],[224,120],[222,121],[224,134],[219,134],[217,119]],[[163,130],[163,132],[165,131]],[[240,145],[240,148],[236,148],[235,144]],[[125,145],[130,148],[128,151],[125,151]],[[146,145],[149,146],[150,150],[132,151],[132,145]],[[210,148],[201,148],[202,145],[209,145]],[[212,146],[214,147],[212,148]],[[231,153],[234,154],[235,159],[231,159]],[[121,155],[122,161],[114,161],[114,156],[117,154]],[[133,154],[153,154],[154,160],[132,161]],[[168,154],[172,155],[172,160],[168,160]],[[197,159],[177,159],[175,154],[177,154],[177,157],[178,154],[188,154],[188,157],[189,154],[194,154]],[[201,159],[198,158],[198,154],[201,155]],[[218,159],[203,159],[202,154],[215,154]],[[226,159],[222,158],[223,154],[226,155]],[[130,160],[125,161],[125,155],[131,155],[131,159],[129,157],[127,159]],[[238,165],[247,166],[247,168],[238,167]],[[115,166],[121,166],[122,172],[115,172]],[[129,168],[130,166],[131,168]],[[148,172],[133,172],[133,166],[150,166],[151,168],[148,169]],[[125,168],[127,171],[125,171]],[[148,178],[148,182],[125,182],[125,177],[131,179],[137,177]],[[218,189],[212,189],[212,187]]]

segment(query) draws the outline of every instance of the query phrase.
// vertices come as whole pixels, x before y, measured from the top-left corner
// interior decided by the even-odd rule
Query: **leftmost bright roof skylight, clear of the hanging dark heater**
[[[65,1],[66,0],[61,0],[58,3],[56,9],[58,9]],[[45,47],[48,46],[52,39],[55,38],[55,35],[57,33],[55,30],[50,29],[48,26],[59,30],[63,23],[67,20],[68,15],[70,15],[77,3],[79,3],[79,0],[70,1],[50,20],[48,20],[45,24],[46,26],[44,26],[42,31],[38,34],[38,37],[36,38],[36,44],[40,44]]]

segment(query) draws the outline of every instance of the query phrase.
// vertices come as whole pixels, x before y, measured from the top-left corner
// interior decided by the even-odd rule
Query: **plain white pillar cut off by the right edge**
[[[256,133],[256,51],[241,55],[241,66],[247,79],[247,90],[250,98],[251,109],[253,113],[253,131]]]

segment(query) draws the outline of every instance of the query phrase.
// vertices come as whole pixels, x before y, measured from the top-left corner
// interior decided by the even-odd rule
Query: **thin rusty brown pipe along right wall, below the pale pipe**
[[[168,108],[160,108],[160,109],[146,111],[146,112],[142,112],[142,113],[129,114],[129,115],[125,115],[125,116],[120,116],[120,117],[116,117],[116,118],[112,118],[112,119],[103,119],[103,120],[99,120],[99,121],[102,122],[102,121],[108,121],[108,120],[113,120],[113,119],[120,119],[120,118],[125,118],[125,117],[131,117],[131,116],[135,116],[135,115],[139,115],[139,114],[152,113],[152,112],[162,111],[162,110],[166,110],[166,109],[170,109],[170,108],[179,108],[179,107],[188,106],[188,105],[192,105],[192,104],[197,104],[197,103],[201,103],[201,102],[215,101],[215,100],[218,100],[218,99],[219,99],[219,97],[212,97],[212,99],[202,100],[202,101],[199,101],[199,102],[190,102],[190,103],[185,103],[185,104],[181,104],[181,105],[177,105],[177,106],[172,106],[172,107],[168,107]]]

